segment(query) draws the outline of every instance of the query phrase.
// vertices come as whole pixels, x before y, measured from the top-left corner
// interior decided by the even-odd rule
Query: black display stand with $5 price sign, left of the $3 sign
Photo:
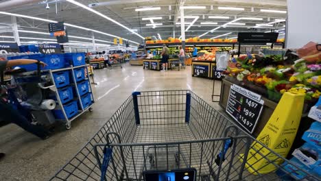
[[[215,71],[215,61],[192,60],[191,74],[193,77],[211,79]]]

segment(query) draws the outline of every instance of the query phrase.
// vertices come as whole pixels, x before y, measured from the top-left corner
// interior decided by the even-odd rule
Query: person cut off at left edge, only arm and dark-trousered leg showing
[[[0,73],[1,75],[3,75],[3,71],[5,71],[7,67],[34,63],[38,63],[42,66],[47,65],[44,62],[40,62],[38,60],[17,59],[8,61],[4,58],[0,58]],[[8,103],[7,88],[2,84],[0,85],[0,120],[15,123],[16,125],[19,125],[21,128],[23,128],[23,130],[26,130],[27,132],[30,132],[38,136],[39,138],[49,138],[49,132],[45,130],[45,128],[38,125],[33,125],[25,117],[23,117],[18,110],[12,108],[12,106]],[[4,156],[5,154],[0,153],[0,159]]]

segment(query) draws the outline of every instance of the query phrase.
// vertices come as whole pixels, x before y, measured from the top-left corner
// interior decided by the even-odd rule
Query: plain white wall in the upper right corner
[[[287,48],[321,43],[321,0],[287,0],[287,13]]]

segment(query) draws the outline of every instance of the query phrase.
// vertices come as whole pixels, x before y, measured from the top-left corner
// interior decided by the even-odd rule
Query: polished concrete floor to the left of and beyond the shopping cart
[[[128,63],[113,69],[95,70],[95,105],[71,123],[61,125],[45,141],[14,124],[0,128],[0,180],[49,180],[101,128],[134,90],[193,90],[214,108],[213,80],[191,77],[191,67],[181,71],[158,72],[132,67]],[[219,84],[216,84],[219,93]]]

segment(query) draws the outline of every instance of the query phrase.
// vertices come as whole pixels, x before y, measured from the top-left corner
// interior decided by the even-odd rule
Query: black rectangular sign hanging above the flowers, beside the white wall
[[[239,43],[276,43],[278,33],[239,33],[237,41]]]

